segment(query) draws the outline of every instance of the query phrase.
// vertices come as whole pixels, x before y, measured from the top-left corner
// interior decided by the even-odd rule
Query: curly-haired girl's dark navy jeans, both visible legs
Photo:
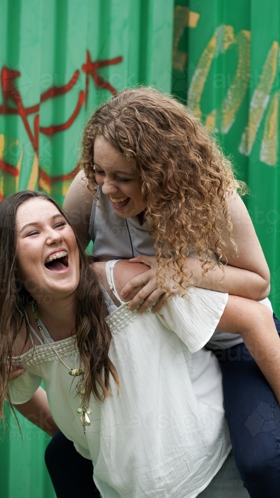
[[[280,334],[280,322],[275,318]],[[280,498],[280,408],[244,344],[215,352],[223,373],[233,454],[251,498]],[[57,498],[99,498],[93,465],[58,431],[46,449]]]

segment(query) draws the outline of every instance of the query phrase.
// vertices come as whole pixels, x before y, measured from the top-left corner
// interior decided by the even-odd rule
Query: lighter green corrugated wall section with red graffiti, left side
[[[0,198],[39,187],[62,202],[95,106],[139,82],[170,92],[173,8],[173,0],[1,1]],[[9,420],[0,444],[0,496],[53,498],[48,437],[19,418],[23,441]]]

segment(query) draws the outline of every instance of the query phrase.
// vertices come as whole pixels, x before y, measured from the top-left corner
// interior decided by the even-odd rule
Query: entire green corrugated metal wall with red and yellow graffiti
[[[139,82],[172,92],[213,129],[251,189],[246,203],[280,316],[279,2],[2,0],[1,7],[0,198],[28,186],[62,201],[81,129],[99,102]],[[10,421],[0,445],[1,496],[52,498],[47,439],[20,420],[23,442]]]

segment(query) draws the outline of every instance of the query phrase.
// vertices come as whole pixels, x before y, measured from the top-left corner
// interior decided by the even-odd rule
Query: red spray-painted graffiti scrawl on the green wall
[[[86,63],[82,65],[82,71],[86,73],[86,83],[85,83],[85,91],[81,90],[79,92],[78,102],[76,107],[70,116],[70,118],[62,124],[50,125],[50,126],[40,126],[39,125],[39,111],[40,105],[46,102],[49,99],[54,99],[60,95],[65,95],[67,92],[72,90],[75,87],[75,84],[78,81],[80,76],[80,71],[77,69],[73,74],[72,78],[66,85],[62,85],[60,87],[53,86],[49,88],[46,92],[44,92],[40,97],[40,103],[35,104],[34,106],[24,107],[20,92],[17,88],[15,80],[20,77],[20,72],[16,70],[12,70],[6,66],[2,67],[0,78],[1,78],[1,92],[2,92],[2,105],[0,106],[0,114],[2,115],[19,115],[25,130],[28,134],[29,140],[33,146],[34,152],[38,155],[39,148],[39,131],[45,135],[51,136],[60,131],[65,131],[68,129],[78,117],[80,110],[85,102],[87,105],[88,95],[89,95],[89,77],[93,78],[93,83],[96,88],[105,89],[111,92],[113,95],[117,93],[114,87],[110,85],[104,78],[97,73],[97,70],[101,67],[109,66],[112,64],[119,64],[122,61],[122,57],[115,57],[113,59],[107,59],[103,61],[92,61],[90,52],[87,50],[86,54]],[[33,131],[31,130],[31,126],[27,121],[27,116],[31,114],[36,114],[33,120]],[[18,170],[11,166],[10,164],[2,161],[0,159],[0,170],[5,171],[13,176],[18,176]],[[42,180],[45,181],[46,184],[52,185],[55,181],[60,180],[69,180],[73,178],[73,175],[79,171],[79,166],[69,174],[54,176],[51,177],[46,172],[44,172],[39,167],[39,176]]]

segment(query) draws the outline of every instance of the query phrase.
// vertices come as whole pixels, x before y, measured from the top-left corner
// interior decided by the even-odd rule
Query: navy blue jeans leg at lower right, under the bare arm
[[[275,317],[280,333],[280,322]],[[233,455],[251,498],[280,497],[280,407],[244,344],[215,352]]]

